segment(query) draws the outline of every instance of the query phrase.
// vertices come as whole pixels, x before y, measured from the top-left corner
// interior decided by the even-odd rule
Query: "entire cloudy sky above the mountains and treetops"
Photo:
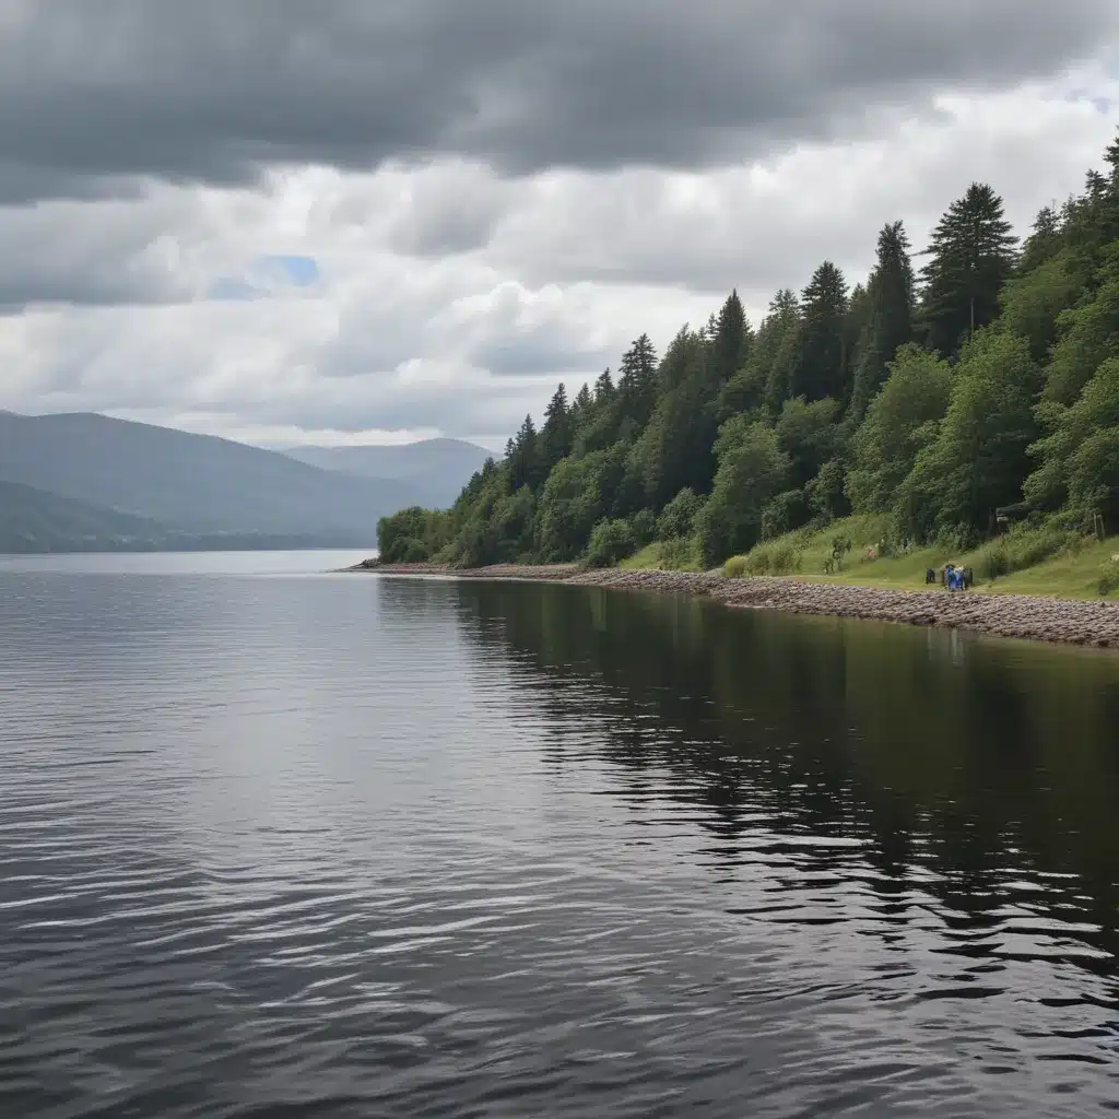
[[[1117,124],[1115,0],[0,0],[0,408],[499,448]]]

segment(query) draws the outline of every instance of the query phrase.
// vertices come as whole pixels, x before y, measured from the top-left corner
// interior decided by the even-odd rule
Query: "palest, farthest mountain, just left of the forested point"
[[[293,446],[284,454],[312,467],[340,470],[363,478],[393,478],[419,493],[419,504],[443,509],[491,451],[461,439],[425,439],[402,446]]]

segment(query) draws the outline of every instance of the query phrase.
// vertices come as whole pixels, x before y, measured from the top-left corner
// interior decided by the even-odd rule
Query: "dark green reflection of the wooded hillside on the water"
[[[1044,904],[1087,901],[1111,941],[1113,658],[592,587],[459,594],[471,640],[552,685],[551,718],[594,718],[636,793],[656,770],[664,794],[668,775],[727,857],[764,811],[770,828],[858,836],[885,892],[922,864],[972,919],[1007,901],[1015,873],[1074,875]],[[562,747],[555,760],[576,763]]]

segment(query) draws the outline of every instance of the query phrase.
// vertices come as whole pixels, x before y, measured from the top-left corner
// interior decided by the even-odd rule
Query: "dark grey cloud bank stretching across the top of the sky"
[[[0,199],[285,162],[712,166],[1052,73],[1117,20],[1111,0],[9,0]]]

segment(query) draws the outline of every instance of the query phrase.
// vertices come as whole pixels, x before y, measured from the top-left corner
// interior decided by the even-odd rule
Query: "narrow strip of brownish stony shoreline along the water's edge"
[[[379,564],[364,561],[348,572],[426,575],[459,580],[571,583],[620,591],[687,594],[727,606],[783,610],[794,614],[856,618],[970,630],[990,637],[1119,649],[1119,603],[1025,594],[949,593],[808,583],[775,575],[728,579],[721,572],[622,571],[577,564],[497,564],[469,570],[444,564]]]

